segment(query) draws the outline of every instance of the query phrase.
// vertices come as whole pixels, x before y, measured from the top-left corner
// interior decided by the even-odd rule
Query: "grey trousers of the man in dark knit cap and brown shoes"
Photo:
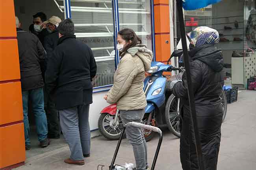
[[[63,135],[69,144],[70,159],[83,160],[83,154],[90,154],[91,132],[89,126],[89,104],[59,110]]]

